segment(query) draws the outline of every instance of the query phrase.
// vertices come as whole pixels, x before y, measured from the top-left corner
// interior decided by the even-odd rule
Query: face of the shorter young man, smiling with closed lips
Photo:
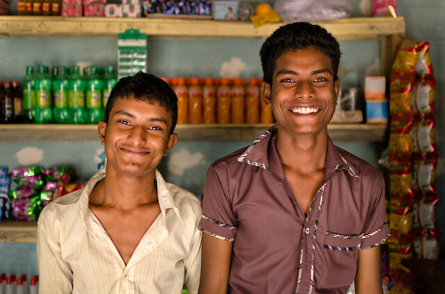
[[[154,174],[161,159],[176,144],[177,135],[170,135],[171,126],[170,114],[159,103],[118,98],[108,123],[99,122],[107,173],[135,177]]]

